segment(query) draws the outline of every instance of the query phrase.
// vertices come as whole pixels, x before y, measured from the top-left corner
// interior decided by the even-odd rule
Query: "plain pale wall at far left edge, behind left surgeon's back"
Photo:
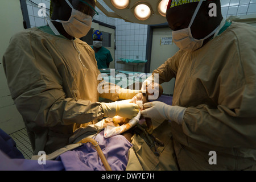
[[[24,30],[24,28],[19,1],[1,1],[0,12],[2,15],[0,16],[0,129],[10,134],[24,128],[24,123],[10,95],[3,70],[2,57],[9,45],[11,36]]]

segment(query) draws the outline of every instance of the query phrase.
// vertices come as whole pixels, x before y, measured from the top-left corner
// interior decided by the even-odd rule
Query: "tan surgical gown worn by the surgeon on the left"
[[[104,117],[97,102],[100,72],[85,42],[30,28],[11,38],[3,66],[35,155],[64,147],[81,124]]]

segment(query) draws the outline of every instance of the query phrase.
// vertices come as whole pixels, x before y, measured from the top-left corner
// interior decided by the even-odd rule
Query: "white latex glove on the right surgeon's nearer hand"
[[[170,119],[181,125],[183,121],[183,115],[187,108],[180,106],[170,106],[163,102],[147,102],[144,105],[144,109],[141,111],[141,115],[145,118],[151,118],[156,121]]]

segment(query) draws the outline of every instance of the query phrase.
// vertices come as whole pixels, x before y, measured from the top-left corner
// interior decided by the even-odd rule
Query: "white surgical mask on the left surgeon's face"
[[[55,22],[60,22],[64,30],[75,38],[82,38],[87,35],[90,27],[92,25],[92,16],[86,15],[81,11],[78,11],[73,8],[71,3],[68,0],[65,0],[68,5],[72,8],[71,16],[68,21],[64,20],[52,20]]]

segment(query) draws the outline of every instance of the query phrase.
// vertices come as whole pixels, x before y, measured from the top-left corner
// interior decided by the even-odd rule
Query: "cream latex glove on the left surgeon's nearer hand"
[[[119,115],[124,118],[134,118],[139,113],[139,106],[133,103],[126,102],[101,102],[105,117],[114,117]]]

